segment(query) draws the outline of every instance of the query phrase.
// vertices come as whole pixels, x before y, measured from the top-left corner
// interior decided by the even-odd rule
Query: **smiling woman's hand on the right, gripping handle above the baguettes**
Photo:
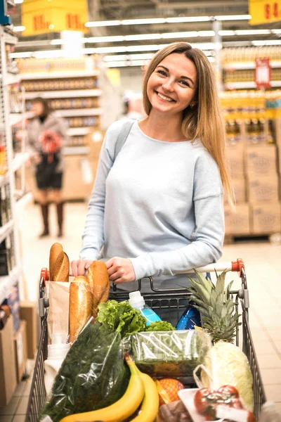
[[[114,257],[105,262],[110,281],[118,283],[129,283],[136,280],[133,264],[128,258]]]

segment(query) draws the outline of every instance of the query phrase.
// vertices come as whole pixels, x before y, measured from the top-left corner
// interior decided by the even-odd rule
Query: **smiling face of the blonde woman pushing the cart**
[[[148,79],[152,109],[177,114],[192,104],[197,74],[194,63],[181,53],[171,53],[157,65]]]

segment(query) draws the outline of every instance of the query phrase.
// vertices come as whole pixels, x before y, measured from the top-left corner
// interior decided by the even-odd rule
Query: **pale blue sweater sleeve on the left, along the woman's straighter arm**
[[[98,160],[98,170],[89,202],[88,214],[82,236],[80,258],[98,260],[104,244],[105,183],[114,162],[115,143],[124,122],[118,120],[111,124],[105,134]]]

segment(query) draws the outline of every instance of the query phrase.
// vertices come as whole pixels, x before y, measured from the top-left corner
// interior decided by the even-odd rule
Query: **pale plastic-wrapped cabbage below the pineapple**
[[[204,359],[201,381],[202,387],[214,390],[222,385],[233,385],[245,407],[253,411],[253,376],[247,357],[239,347],[225,341],[211,347]]]

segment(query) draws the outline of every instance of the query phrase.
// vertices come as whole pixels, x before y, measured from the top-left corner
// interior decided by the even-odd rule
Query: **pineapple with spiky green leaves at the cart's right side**
[[[214,343],[218,340],[232,342],[238,325],[239,314],[235,311],[233,299],[230,297],[231,281],[226,290],[224,288],[226,272],[216,274],[216,286],[211,280],[194,270],[197,280],[190,279],[192,293],[190,300],[201,314],[202,327],[212,336]],[[239,324],[240,325],[240,324]]]

